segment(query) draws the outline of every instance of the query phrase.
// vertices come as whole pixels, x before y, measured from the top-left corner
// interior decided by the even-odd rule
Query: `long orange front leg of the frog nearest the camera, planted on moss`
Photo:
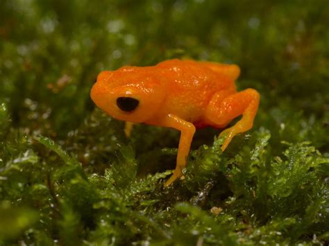
[[[162,121],[161,125],[169,128],[180,130],[180,139],[178,145],[178,154],[176,160],[176,168],[174,174],[167,180],[165,186],[172,184],[178,177],[182,176],[182,170],[186,166],[187,155],[191,147],[192,138],[194,136],[195,127],[192,123],[184,121],[183,119],[173,114],[168,114]]]

